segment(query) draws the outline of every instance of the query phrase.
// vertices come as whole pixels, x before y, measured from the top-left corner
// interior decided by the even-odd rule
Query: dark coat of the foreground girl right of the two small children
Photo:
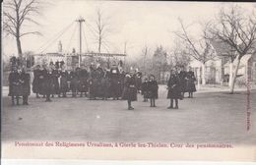
[[[182,99],[180,80],[177,75],[171,75],[168,80],[167,98]]]

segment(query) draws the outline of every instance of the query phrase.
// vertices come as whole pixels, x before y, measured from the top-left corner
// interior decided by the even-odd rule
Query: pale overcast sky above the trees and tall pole
[[[83,1],[83,0],[47,0],[49,3],[36,16],[40,26],[26,25],[23,31],[36,29],[42,35],[26,35],[22,38],[23,52],[34,53],[56,52],[58,42],[63,45],[63,52],[79,50],[79,25],[76,20],[83,17],[86,22],[82,27],[83,52],[97,51],[96,43],[96,11],[102,12],[106,23],[101,52],[126,53],[129,58],[136,59],[147,45],[150,52],[157,46],[170,51],[176,37],[173,31],[180,29],[178,18],[188,26],[189,32],[200,34],[199,23],[217,17],[222,6],[232,2],[167,2],[167,1]],[[252,3],[239,3],[243,8],[251,10]],[[5,10],[5,9],[3,9]],[[61,36],[61,31],[65,28]],[[58,35],[59,34],[59,35]],[[57,37],[59,36],[59,37]],[[16,55],[15,39],[3,36],[3,53],[5,56]]]

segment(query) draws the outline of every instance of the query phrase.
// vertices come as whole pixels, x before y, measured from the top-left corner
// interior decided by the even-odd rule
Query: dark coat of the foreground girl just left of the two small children
[[[136,88],[135,77],[130,77],[130,76],[125,77],[122,99],[130,100],[130,101],[137,100],[137,88]]]

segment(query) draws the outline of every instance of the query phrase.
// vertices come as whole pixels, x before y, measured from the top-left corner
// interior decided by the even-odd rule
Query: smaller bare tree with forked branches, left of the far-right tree
[[[210,23],[207,23],[203,27],[203,35],[199,39],[192,38],[188,32],[186,27],[184,27],[182,20],[179,19],[179,23],[181,26],[180,32],[175,32],[175,34],[180,37],[184,43],[186,44],[187,48],[189,49],[190,55],[201,62],[202,64],[202,84],[206,84],[205,78],[205,69],[206,69],[206,62],[213,59],[215,51],[213,46],[208,39],[207,36],[207,29],[210,26]]]

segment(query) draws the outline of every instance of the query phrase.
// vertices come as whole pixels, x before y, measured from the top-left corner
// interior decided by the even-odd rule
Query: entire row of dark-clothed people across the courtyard
[[[178,99],[183,99],[184,93],[189,92],[193,97],[195,88],[195,76],[192,71],[181,71],[179,74],[170,71],[167,83],[167,98],[170,99],[168,108],[178,108]],[[23,104],[28,105],[28,97],[31,94],[31,78],[26,68],[12,67],[9,75],[9,95],[12,97],[12,104],[15,99],[19,105],[19,98],[23,97]],[[142,73],[130,71],[124,73],[117,66],[111,69],[102,69],[91,65],[89,70],[85,67],[66,71],[64,65],[57,67],[54,64],[48,66],[37,65],[33,70],[32,92],[36,98],[41,96],[46,102],[51,97],[67,97],[71,92],[72,97],[86,96],[90,99],[127,100],[128,109],[132,107],[132,101],[137,100],[137,94],[144,96],[144,102],[150,99],[151,107],[156,107],[156,99],[159,98],[159,85],[154,75],[145,77],[142,81]],[[175,106],[173,106],[175,101]]]

